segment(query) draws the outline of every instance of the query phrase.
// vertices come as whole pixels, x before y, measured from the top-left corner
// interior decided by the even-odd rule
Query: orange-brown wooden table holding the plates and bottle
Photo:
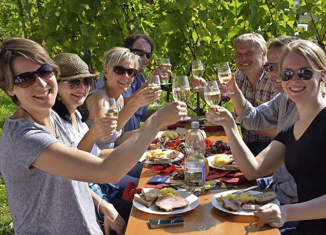
[[[224,130],[207,133],[207,137],[213,141],[217,139],[227,141]],[[146,185],[149,179],[157,175],[151,167],[151,164],[144,164],[139,187]],[[256,182],[252,181],[239,184],[237,188],[246,188],[255,184]],[[225,190],[206,190],[199,196],[200,204],[197,208],[176,214],[183,217],[185,226],[151,229],[148,225],[149,218],[167,217],[167,215],[150,214],[132,207],[125,234],[280,234],[277,228],[263,224],[258,217],[233,215],[216,209],[210,201],[216,193],[222,191]]]

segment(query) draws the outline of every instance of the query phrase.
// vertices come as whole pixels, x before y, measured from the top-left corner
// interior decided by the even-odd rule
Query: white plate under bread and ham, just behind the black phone
[[[164,211],[157,211],[156,207],[155,207],[155,203],[152,204],[149,208],[147,208],[145,205],[143,205],[142,203],[139,203],[135,200],[133,200],[132,203],[135,208],[137,208],[143,212],[157,214],[157,215],[172,215],[172,214],[184,213],[184,212],[191,211],[191,210],[195,209],[197,207],[197,205],[199,205],[199,198],[197,196],[195,196],[194,194],[189,193],[189,192],[179,191],[179,190],[176,190],[176,191],[178,193],[181,193],[181,196],[184,199],[187,199],[189,201],[189,204],[185,208],[178,209],[178,210],[175,210],[172,212],[164,212]]]

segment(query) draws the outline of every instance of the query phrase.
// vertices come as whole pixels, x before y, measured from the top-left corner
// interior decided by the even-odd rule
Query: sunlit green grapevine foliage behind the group
[[[258,32],[265,40],[293,36],[297,16],[303,13],[311,18],[309,31],[300,37],[319,40],[319,45],[326,40],[322,0],[302,1],[296,7],[290,0],[4,0],[0,6],[1,41],[12,36],[30,38],[52,56],[77,53],[99,71],[103,52],[122,46],[124,38],[136,31],[155,40],[149,73],[165,54],[174,74],[190,75],[191,62],[201,60],[206,76],[214,74],[212,66],[220,62],[228,61],[235,69],[232,43],[238,35]],[[85,48],[91,58],[84,56]]]

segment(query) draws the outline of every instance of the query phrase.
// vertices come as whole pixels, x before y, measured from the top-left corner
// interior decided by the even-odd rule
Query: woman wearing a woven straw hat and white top
[[[87,64],[77,54],[61,53],[55,56],[53,61],[59,66],[60,76],[57,78],[58,96],[52,109],[59,114],[68,135],[77,144],[78,149],[91,152],[98,157],[106,156],[112,150],[99,150],[95,141],[110,136],[115,130],[115,126],[105,126],[107,122],[101,122],[101,119],[95,122],[90,129],[85,124],[85,120],[89,116],[85,99],[93,78],[98,74],[90,74]],[[115,223],[118,224],[118,228],[125,229],[132,203],[122,200],[121,197],[128,182],[137,185],[138,181],[137,178],[125,175],[116,185],[90,184],[92,189],[106,200],[101,202],[101,207],[103,205],[105,209],[104,220],[101,216],[98,216],[99,220],[104,222],[105,229],[110,229],[110,225],[116,225]],[[97,205],[101,197],[94,193],[93,190],[91,190],[93,201]],[[125,223],[122,224],[120,216],[115,220],[118,212],[116,209],[111,209],[110,205],[108,205],[110,204],[109,201],[117,209]],[[112,215],[115,215],[115,217],[110,217]],[[112,227],[115,228],[115,226]],[[108,230],[106,230],[106,234],[108,234]]]

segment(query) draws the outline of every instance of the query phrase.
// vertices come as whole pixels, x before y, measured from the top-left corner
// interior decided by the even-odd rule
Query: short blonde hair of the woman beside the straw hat
[[[131,64],[133,68],[139,70],[141,67],[141,57],[132,53],[125,47],[113,47],[104,52],[103,56],[103,69],[106,69],[107,73],[111,73],[113,68],[121,64]],[[106,77],[104,76],[104,85],[106,85]]]

